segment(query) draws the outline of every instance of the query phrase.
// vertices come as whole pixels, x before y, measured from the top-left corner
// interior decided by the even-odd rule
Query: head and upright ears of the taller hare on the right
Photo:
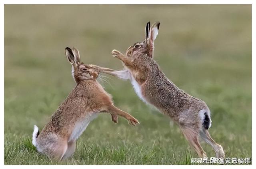
[[[160,22],[155,22],[151,27],[150,22],[148,22],[146,25],[145,40],[143,40],[142,42],[137,42],[134,45],[130,46],[126,50],[126,56],[134,58],[141,54],[147,54],[149,57],[153,58],[154,40],[158,35],[159,26]]]

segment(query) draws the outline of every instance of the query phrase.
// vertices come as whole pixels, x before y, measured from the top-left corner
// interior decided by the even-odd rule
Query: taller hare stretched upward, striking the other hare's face
[[[112,51],[112,55],[122,61],[124,70],[116,71],[95,65],[93,67],[100,72],[130,80],[142,101],[154,105],[178,124],[200,157],[206,157],[206,153],[199,143],[199,137],[212,146],[217,157],[224,157],[222,146],[212,139],[208,131],[212,122],[208,106],[204,101],[179,89],[153,60],[154,40],[158,35],[159,26],[160,23],[156,22],[150,27],[148,22],[145,40],[130,46],[126,54]]]

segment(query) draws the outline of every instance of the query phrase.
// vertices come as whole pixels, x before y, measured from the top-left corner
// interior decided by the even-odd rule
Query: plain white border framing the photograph
[[[70,2],[72,2],[72,4],[156,4],[159,3],[159,4],[252,4],[252,87],[255,85],[255,70],[256,68],[254,68],[255,66],[255,52],[254,52],[254,49],[255,49],[255,10],[256,10],[256,3],[253,3],[253,0],[208,0],[208,1],[204,1],[204,0],[172,0],[172,1],[167,1],[167,0],[157,0],[157,1],[153,1],[153,0],[122,0],[122,1],[117,1],[117,0],[93,0],[93,1],[83,1],[83,0],[72,0],[72,1],[68,1],[68,0],[37,0],[36,2],[35,1],[32,1],[32,0],[23,0],[22,2],[20,0],[3,0],[3,4],[2,6],[0,7],[0,11],[1,11],[1,18],[0,18],[0,22],[2,23],[2,26],[1,26],[1,51],[2,51],[2,56],[4,56],[4,4],[70,4]],[[0,139],[0,144],[2,145],[1,148],[0,148],[0,151],[1,151],[1,154],[0,154],[0,161],[1,161],[1,164],[6,167],[6,168],[12,168],[12,167],[20,167],[20,168],[42,168],[44,169],[45,167],[61,167],[61,168],[68,168],[70,166],[68,165],[58,165],[58,166],[55,166],[55,165],[47,165],[47,166],[44,166],[44,165],[23,165],[23,166],[14,166],[14,165],[4,165],[4,57],[2,57],[2,62],[1,62],[1,69],[2,71],[0,71],[0,74],[1,74],[1,81],[2,83],[0,84],[1,85],[1,93],[2,93],[2,97],[0,97],[1,99],[1,102],[2,102],[2,113],[1,113],[1,119],[2,119],[2,124],[1,124],[1,130],[0,130],[0,134],[2,135],[1,139]],[[255,106],[256,106],[256,102],[255,102],[255,99],[254,99],[254,96],[255,95],[255,90],[252,88],[252,112],[254,112],[255,110]],[[242,112],[241,112],[242,113]],[[252,121],[254,122],[255,121],[255,115],[253,115],[252,113]],[[252,122],[252,130],[254,131],[254,123]],[[255,134],[252,133],[252,143],[254,143],[255,141]],[[252,159],[254,159],[255,156],[255,146],[252,145]],[[253,160],[252,160],[253,161]],[[255,161],[253,161],[255,163]],[[254,166],[254,163],[252,163],[252,165],[244,165],[243,167],[252,167]],[[73,166],[72,166],[73,167]],[[177,167],[176,165],[172,165],[172,166],[169,166],[169,165],[90,165],[90,166],[84,166],[84,165],[76,165],[74,167],[77,167],[77,168],[83,168],[86,167],[90,167],[90,168],[93,168],[93,169],[96,169],[96,168],[107,168],[107,167],[111,167],[112,169],[117,169],[117,168],[120,168],[122,167],[123,169],[130,169],[131,167],[132,168],[155,168],[155,167],[161,167],[161,168],[165,168],[165,169],[170,169],[170,167]],[[181,166],[178,166],[178,167],[181,167]],[[189,167],[191,168],[215,168],[215,167],[227,167],[227,168],[240,168],[241,166],[238,166],[238,165],[230,165],[230,166],[224,166],[224,165],[208,165],[208,166],[205,166],[205,165],[190,165]]]

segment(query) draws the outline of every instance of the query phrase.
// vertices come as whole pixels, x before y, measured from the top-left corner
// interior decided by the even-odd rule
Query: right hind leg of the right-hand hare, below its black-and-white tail
[[[217,158],[224,158],[225,157],[225,153],[222,149],[222,146],[219,145],[218,143],[216,143],[212,137],[210,136],[210,133],[208,131],[208,129],[203,129],[202,131],[200,131],[200,136],[201,138],[208,144],[210,144],[212,146],[212,148],[214,149]]]

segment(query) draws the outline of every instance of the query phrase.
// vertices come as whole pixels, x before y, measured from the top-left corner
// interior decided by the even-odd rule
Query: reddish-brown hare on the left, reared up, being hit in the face
[[[37,150],[54,159],[65,159],[74,153],[76,140],[100,112],[109,112],[114,123],[118,122],[117,115],[126,118],[132,125],[139,123],[130,114],[114,106],[110,94],[96,80],[99,72],[80,62],[78,50],[66,48],[65,53],[72,65],[76,87],[40,134],[38,127],[34,126],[32,137]]]

